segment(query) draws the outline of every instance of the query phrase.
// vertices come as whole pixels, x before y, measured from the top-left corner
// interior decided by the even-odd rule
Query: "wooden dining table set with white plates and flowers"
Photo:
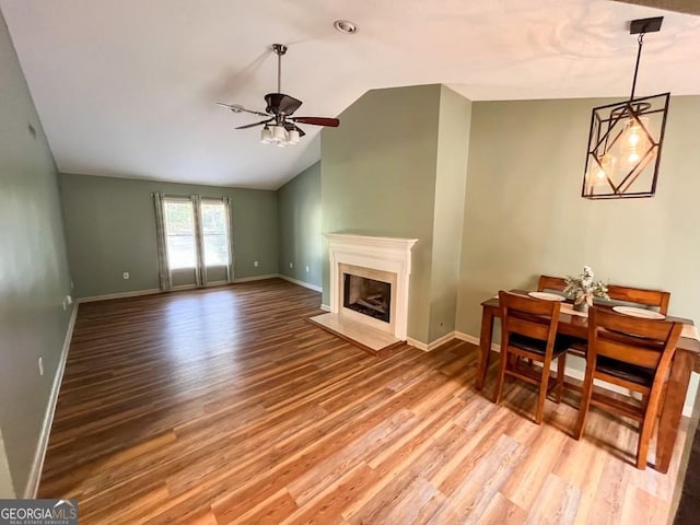
[[[528,291],[511,290],[512,293],[526,295]],[[570,303],[569,306],[571,306]],[[491,346],[493,340],[493,322],[501,316],[498,295],[481,303],[481,334],[479,336],[479,364],[477,368],[476,388],[483,388]],[[612,307],[612,306],[607,306]],[[682,408],[690,383],[690,373],[696,363],[700,363],[700,340],[691,319],[666,316],[668,320],[675,320],[689,325],[684,330],[670,365],[666,396],[661,408],[658,430],[656,435],[656,460],[654,469],[666,474],[670,465],[674,447],[678,436],[678,428],[682,416]],[[588,317],[585,314],[564,308],[562,305],[557,332],[585,340],[588,337]]]

